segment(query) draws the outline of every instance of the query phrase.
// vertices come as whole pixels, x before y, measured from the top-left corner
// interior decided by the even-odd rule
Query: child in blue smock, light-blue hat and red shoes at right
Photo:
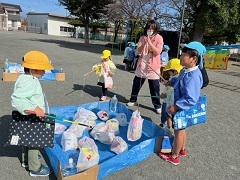
[[[202,56],[206,48],[199,42],[191,42],[182,49],[180,63],[184,68],[174,84],[174,105],[167,108],[167,112],[174,115],[177,110],[187,110],[194,106],[200,96],[203,78],[200,68],[203,67]],[[199,67],[198,67],[199,66]],[[186,156],[185,129],[174,130],[174,142],[171,154],[159,153],[159,156],[174,165],[178,165],[179,155]]]

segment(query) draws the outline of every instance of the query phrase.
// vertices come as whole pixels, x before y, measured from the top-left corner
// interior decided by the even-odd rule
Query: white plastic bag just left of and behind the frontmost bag
[[[78,148],[77,136],[72,131],[64,131],[61,138],[61,146],[63,151],[75,150]]]

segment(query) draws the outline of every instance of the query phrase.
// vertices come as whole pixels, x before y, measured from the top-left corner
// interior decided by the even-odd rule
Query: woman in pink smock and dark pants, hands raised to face
[[[158,26],[154,20],[148,21],[144,28],[144,35],[140,37],[137,47],[137,54],[140,54],[135,77],[133,79],[130,102],[127,106],[137,105],[137,95],[148,79],[152,104],[158,114],[161,113],[161,103],[159,100],[160,84],[160,53],[163,47],[163,38],[157,33]],[[157,96],[157,98],[156,98]]]

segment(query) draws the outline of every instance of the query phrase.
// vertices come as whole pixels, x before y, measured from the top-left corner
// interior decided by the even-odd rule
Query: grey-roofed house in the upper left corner
[[[21,27],[21,12],[19,5],[0,2],[0,30],[17,30]]]

